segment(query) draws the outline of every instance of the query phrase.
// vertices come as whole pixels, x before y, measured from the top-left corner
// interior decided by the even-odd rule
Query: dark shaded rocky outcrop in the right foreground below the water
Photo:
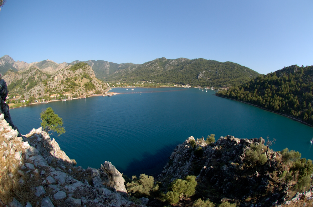
[[[264,139],[226,136],[208,145],[204,139],[189,137],[176,147],[158,181],[169,184],[191,174],[197,176],[198,193],[216,203],[222,199],[243,206],[271,206],[284,202],[288,188],[277,177],[282,169],[276,159],[280,154],[264,149],[267,162],[250,165],[245,157],[251,144],[264,146]]]

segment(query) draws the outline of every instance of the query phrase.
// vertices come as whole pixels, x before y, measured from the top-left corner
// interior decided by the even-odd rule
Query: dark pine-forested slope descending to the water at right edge
[[[252,103],[313,125],[313,66],[292,65],[217,95]]]

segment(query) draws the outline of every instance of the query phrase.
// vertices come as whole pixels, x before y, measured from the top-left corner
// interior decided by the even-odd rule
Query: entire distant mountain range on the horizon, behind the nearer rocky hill
[[[233,62],[218,62],[215,60],[198,59],[167,59],[157,58],[143,63],[113,63],[103,60],[73,61],[71,63],[55,63],[44,60],[34,63],[14,61],[8,55],[0,58],[0,73],[9,69],[15,72],[37,68],[47,74],[76,63],[87,63],[95,73],[95,77],[105,82],[148,81],[154,83],[190,84],[213,87],[230,87],[246,83],[260,74],[250,68]],[[8,83],[9,84],[9,83]]]

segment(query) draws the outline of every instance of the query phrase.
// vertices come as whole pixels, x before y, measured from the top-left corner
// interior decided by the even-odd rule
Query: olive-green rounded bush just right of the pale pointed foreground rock
[[[131,183],[127,183],[126,186],[127,191],[133,194],[136,198],[150,196],[151,191],[159,189],[158,184],[154,184],[153,176],[148,176],[146,174],[141,174],[139,179],[137,179],[136,175],[132,176]]]

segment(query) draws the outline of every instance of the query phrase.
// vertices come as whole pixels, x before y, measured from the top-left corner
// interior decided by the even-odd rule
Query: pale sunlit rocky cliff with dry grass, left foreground
[[[41,127],[20,135],[4,103],[3,80],[0,92],[0,206],[137,206],[110,162],[83,169]]]

